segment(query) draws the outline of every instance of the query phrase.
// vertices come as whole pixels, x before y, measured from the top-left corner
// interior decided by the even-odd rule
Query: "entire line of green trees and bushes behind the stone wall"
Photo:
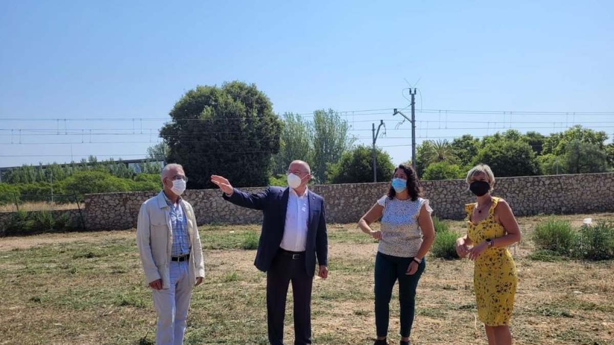
[[[213,188],[211,174],[227,176],[237,187],[284,185],[284,172],[295,159],[310,163],[319,184],[373,181],[371,148],[355,145],[351,126],[332,109],[316,110],[313,118],[292,113],[279,117],[254,84],[228,82],[187,91],[170,115],[171,122],[160,130],[163,142],[147,155],[181,163],[190,189]],[[516,130],[481,139],[466,134],[451,142],[422,142],[416,169],[427,180],[462,178],[476,163],[490,165],[500,177],[603,172],[614,168],[614,144],[606,145],[607,139],[604,132],[581,126],[549,136]],[[376,169],[379,181],[389,180],[394,170],[391,157],[380,149]],[[2,176],[12,187],[0,185],[0,192],[20,186],[22,195],[49,194],[51,174],[66,193],[160,188],[160,165],[143,162],[139,170],[145,174],[136,174],[122,161],[99,162],[95,157],[47,168],[23,166]],[[60,183],[64,180],[74,183]]]

